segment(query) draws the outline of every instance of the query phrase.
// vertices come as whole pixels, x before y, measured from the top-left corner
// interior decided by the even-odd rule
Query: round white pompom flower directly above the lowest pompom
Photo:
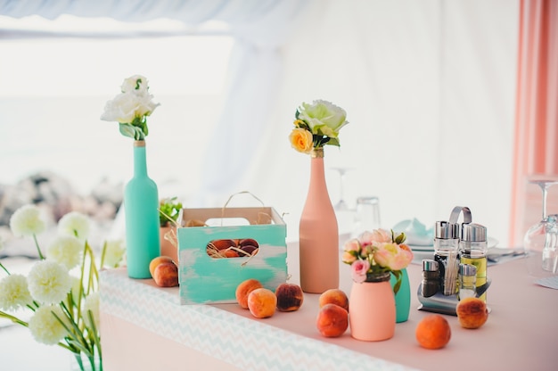
[[[68,269],[52,260],[38,261],[29,271],[27,282],[33,299],[44,304],[63,301],[72,284]]]

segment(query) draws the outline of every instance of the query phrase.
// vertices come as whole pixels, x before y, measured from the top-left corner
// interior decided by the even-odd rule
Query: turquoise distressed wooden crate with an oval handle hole
[[[236,302],[236,287],[249,278],[274,292],[286,282],[287,229],[273,208],[183,210],[182,225],[192,220],[208,227],[180,227],[176,232],[181,304]],[[209,242],[246,238],[259,245],[251,257],[215,259],[207,252]]]

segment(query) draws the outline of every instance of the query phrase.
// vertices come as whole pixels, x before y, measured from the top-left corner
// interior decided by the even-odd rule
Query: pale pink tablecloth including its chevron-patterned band
[[[298,246],[288,246],[290,282],[298,283]],[[523,260],[488,268],[491,313],[476,330],[445,316],[452,337],[441,350],[425,350],[414,329],[429,312],[418,310],[421,267],[407,268],[409,320],[384,342],[360,342],[349,330],[324,338],[316,330],[317,294],[305,294],[295,312],[257,319],[236,304],[180,305],[178,288],[132,280],[126,269],[101,275],[101,335],[105,369],[532,369],[558,367],[558,291],[532,282]],[[350,291],[349,266],[341,264],[341,289]]]

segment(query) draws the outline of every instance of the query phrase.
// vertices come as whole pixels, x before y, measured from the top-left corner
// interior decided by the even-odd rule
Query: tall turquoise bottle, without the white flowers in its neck
[[[145,142],[134,141],[134,177],[124,189],[127,275],[151,278],[149,263],[160,256],[159,194],[147,175]]]

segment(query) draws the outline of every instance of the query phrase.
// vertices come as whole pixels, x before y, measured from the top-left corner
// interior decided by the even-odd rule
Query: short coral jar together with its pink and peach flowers
[[[413,251],[404,243],[406,235],[374,229],[343,246],[342,260],[350,265],[353,285],[349,294],[351,336],[373,342],[393,337],[396,301],[404,276],[413,260]],[[391,275],[395,284],[390,284]],[[407,304],[408,305],[408,304]]]

